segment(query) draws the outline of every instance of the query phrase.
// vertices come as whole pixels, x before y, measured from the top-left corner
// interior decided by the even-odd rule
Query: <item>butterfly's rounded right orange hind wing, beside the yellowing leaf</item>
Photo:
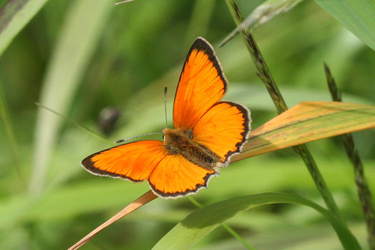
[[[222,101],[213,105],[192,128],[194,141],[209,148],[226,165],[239,152],[250,131],[249,110],[238,103]]]

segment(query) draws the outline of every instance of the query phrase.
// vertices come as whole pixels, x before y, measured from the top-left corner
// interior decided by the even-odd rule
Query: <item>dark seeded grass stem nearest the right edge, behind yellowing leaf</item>
[[[341,101],[341,91],[337,87],[327,64],[324,63],[324,71],[327,79],[329,92],[332,100]],[[363,164],[360,160],[358,150],[355,148],[351,133],[342,135],[342,142],[346,151],[346,155],[353,165],[355,184],[357,186],[360,205],[363,211],[363,217],[366,222],[368,233],[368,244],[370,249],[375,249],[375,212],[371,203],[371,191],[368,188],[366,178],[364,177]]]

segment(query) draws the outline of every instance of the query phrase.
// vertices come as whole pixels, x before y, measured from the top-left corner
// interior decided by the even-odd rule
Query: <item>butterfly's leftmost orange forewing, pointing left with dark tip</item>
[[[162,141],[139,140],[93,153],[81,165],[96,175],[138,182],[147,179],[167,153]]]

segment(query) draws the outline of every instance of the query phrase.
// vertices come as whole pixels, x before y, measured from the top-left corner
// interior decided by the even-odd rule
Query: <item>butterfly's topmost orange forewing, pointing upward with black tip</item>
[[[213,48],[203,38],[192,44],[178,81],[173,106],[174,128],[187,131],[217,101],[227,88]]]

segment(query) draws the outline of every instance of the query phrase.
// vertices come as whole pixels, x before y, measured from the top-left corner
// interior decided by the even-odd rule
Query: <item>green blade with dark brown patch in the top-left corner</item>
[[[47,0],[9,0],[0,10],[0,55]]]

